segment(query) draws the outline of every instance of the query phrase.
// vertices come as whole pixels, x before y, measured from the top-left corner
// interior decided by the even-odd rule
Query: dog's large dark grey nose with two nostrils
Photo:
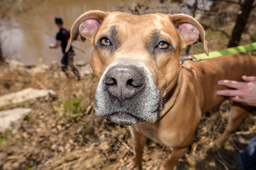
[[[113,67],[105,75],[105,89],[111,96],[124,101],[145,88],[142,71],[134,66]]]

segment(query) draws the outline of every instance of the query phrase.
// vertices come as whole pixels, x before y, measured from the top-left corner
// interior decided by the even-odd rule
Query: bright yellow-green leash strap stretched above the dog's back
[[[205,53],[193,55],[193,58],[196,60],[207,60],[207,59],[221,57],[224,55],[231,55],[239,52],[248,52],[251,50],[256,50],[256,42],[252,42],[247,45],[239,45],[238,47],[230,47],[225,50],[210,52],[209,56],[207,56]]]

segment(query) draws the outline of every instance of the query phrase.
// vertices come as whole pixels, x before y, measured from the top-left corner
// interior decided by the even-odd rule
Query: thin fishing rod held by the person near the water
[[[14,16],[14,15],[12,15],[11,13],[8,13],[8,12],[3,11],[3,10],[1,10],[1,9],[0,9],[0,13],[4,13],[4,15],[9,16],[9,17],[11,17],[11,18],[14,18],[14,19],[16,19],[17,21],[20,21],[21,23],[24,23],[25,25],[27,25],[27,26],[29,26],[29,27],[31,27],[31,28],[34,28],[34,29],[40,31],[41,33],[44,33],[44,34],[50,36],[51,38],[55,38],[53,34],[48,33],[46,30],[43,30],[42,28],[40,28],[40,27],[38,27],[38,26],[36,26],[36,25],[33,25],[32,23],[29,23],[29,22],[26,21],[26,20],[23,20],[22,18],[19,18],[19,17],[17,17],[17,16]],[[78,50],[78,51],[80,51],[80,52],[86,54],[85,50],[80,49],[80,47],[76,47],[75,45],[72,45],[72,47],[75,48],[76,50]]]

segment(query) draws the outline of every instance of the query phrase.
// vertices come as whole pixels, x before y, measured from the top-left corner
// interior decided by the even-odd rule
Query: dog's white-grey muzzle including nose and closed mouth
[[[96,114],[115,123],[154,123],[161,109],[159,90],[145,67],[107,67],[96,90]]]

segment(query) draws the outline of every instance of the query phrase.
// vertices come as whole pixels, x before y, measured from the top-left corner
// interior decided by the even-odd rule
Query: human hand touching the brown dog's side
[[[219,85],[228,86],[228,90],[217,91],[218,96],[228,96],[247,106],[256,106],[256,77],[242,76],[245,81],[220,80]]]

